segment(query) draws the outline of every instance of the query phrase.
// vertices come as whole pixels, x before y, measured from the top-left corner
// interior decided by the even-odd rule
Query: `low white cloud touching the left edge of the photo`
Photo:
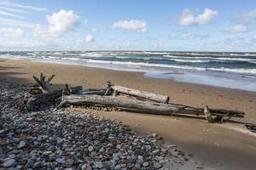
[[[0,28],[0,34],[5,38],[20,38],[23,37],[24,32],[20,28]]]

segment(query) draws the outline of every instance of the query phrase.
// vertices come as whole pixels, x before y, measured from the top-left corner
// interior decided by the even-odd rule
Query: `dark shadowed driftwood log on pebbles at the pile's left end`
[[[49,93],[45,94],[38,94],[38,95],[30,95],[26,100],[26,109],[27,111],[33,111],[36,109],[39,105],[45,104],[45,103],[55,103],[55,100],[58,98],[61,98],[62,94],[65,94],[65,91],[67,89],[61,89],[61,90],[55,90]],[[74,87],[70,88],[71,94],[79,94],[82,91],[82,87]]]

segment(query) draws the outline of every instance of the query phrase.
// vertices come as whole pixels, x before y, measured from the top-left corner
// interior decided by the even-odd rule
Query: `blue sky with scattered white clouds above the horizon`
[[[256,1],[0,0],[0,50],[256,52]]]

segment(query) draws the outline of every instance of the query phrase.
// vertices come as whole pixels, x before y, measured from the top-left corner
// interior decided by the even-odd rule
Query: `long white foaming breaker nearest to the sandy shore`
[[[231,69],[231,68],[206,68],[206,67],[196,67],[188,65],[165,65],[165,64],[153,64],[153,63],[142,63],[142,62],[122,62],[122,61],[106,61],[106,60],[95,60],[87,59],[89,63],[100,63],[100,64],[113,64],[113,65],[140,65],[140,66],[152,66],[152,67],[164,67],[164,68],[174,68],[183,70],[195,70],[195,71],[224,71],[224,72],[236,72],[242,74],[253,74],[256,75],[256,69]]]

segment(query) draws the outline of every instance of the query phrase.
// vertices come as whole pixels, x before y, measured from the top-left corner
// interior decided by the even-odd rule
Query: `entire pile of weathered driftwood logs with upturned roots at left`
[[[209,109],[207,106],[205,108],[195,108],[188,105],[172,104],[169,103],[169,97],[166,95],[112,85],[110,82],[107,82],[106,88],[87,88],[83,90],[81,86],[69,88],[66,84],[64,89],[52,91],[50,81],[53,77],[54,75],[46,80],[43,73],[39,78],[33,76],[38,85],[29,88],[29,93],[34,95],[29,95],[25,99],[27,111],[34,111],[44,104],[60,103],[58,107],[100,105],[165,116],[205,116],[208,122],[222,122],[226,116],[231,118],[245,115],[241,111]],[[45,91],[46,93],[43,94]],[[119,94],[125,95],[118,96]],[[127,96],[132,98],[127,98]]]

